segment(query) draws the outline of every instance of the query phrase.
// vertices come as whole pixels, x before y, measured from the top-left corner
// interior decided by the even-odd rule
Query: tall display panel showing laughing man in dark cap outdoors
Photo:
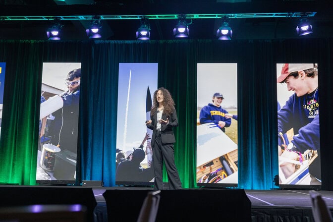
[[[197,185],[237,186],[237,63],[197,68]]]

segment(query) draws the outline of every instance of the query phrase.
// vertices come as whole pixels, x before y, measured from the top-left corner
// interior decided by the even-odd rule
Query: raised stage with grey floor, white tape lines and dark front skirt
[[[107,189],[146,189],[143,187],[104,187],[93,188],[95,198],[98,202],[96,208],[100,214],[99,221],[106,222],[106,201],[103,193]],[[328,208],[333,213],[333,191],[317,190]],[[311,210],[311,199],[309,190],[245,190],[251,202],[252,222],[314,222]],[[208,207],[208,206],[206,206]],[[103,216],[104,215],[104,216]],[[103,219],[102,219],[103,218]]]

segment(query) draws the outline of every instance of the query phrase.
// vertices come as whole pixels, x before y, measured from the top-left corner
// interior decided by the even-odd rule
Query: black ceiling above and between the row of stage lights
[[[52,20],[6,20],[5,16],[221,14],[268,12],[317,12],[309,17],[314,33],[298,37],[299,18],[232,18],[233,39],[327,38],[333,36],[333,15],[326,1],[265,0],[216,2],[201,0],[0,0],[0,39],[46,40]],[[43,3],[41,3],[43,2]],[[328,9],[326,9],[328,8]],[[2,19],[1,19],[2,18]],[[88,39],[90,20],[62,20],[62,40]],[[220,18],[192,19],[190,39],[215,39]],[[174,39],[177,19],[150,19],[152,40]],[[135,40],[140,19],[103,19],[103,40]]]

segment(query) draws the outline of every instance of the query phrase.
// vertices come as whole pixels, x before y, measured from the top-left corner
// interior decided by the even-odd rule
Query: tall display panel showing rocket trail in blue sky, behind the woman
[[[117,185],[153,185],[152,130],[147,128],[145,122],[150,119],[157,79],[158,63],[119,63]],[[134,160],[140,161],[132,165]]]

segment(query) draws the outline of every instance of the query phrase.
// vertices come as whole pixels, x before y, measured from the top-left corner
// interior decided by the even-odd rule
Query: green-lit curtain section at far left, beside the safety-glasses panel
[[[0,140],[0,182],[30,185],[36,181],[42,48],[38,42],[1,42],[6,62]],[[26,55],[29,52],[29,55]],[[40,103],[40,102],[39,102]]]

